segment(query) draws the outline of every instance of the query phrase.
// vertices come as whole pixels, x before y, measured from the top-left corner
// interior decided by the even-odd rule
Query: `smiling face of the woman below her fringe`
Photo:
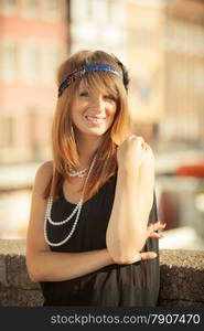
[[[71,106],[72,120],[79,135],[103,136],[111,126],[117,100],[108,93],[88,88],[83,82]]]

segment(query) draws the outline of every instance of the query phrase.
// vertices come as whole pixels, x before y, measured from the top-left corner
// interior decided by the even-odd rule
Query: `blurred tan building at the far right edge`
[[[204,145],[204,1],[171,0],[165,8],[165,92],[160,138]]]

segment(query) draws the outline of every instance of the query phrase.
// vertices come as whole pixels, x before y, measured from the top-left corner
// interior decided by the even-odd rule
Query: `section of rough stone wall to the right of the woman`
[[[162,249],[161,306],[204,306],[204,252]]]

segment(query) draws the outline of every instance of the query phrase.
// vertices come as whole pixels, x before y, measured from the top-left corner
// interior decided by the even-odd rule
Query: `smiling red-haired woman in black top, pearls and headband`
[[[128,73],[103,51],[58,70],[53,160],[36,172],[26,239],[44,306],[155,306],[154,158],[130,135]]]

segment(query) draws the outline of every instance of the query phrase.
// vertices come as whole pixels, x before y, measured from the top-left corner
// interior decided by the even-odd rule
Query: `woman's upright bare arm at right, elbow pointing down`
[[[135,171],[130,167],[133,161],[130,157],[127,159],[127,168],[118,167],[115,201],[106,233],[107,249],[118,264],[133,263],[136,254],[147,241],[148,220],[153,203],[154,156],[147,143],[142,142],[142,151],[140,147],[135,146],[138,158],[141,157]]]

